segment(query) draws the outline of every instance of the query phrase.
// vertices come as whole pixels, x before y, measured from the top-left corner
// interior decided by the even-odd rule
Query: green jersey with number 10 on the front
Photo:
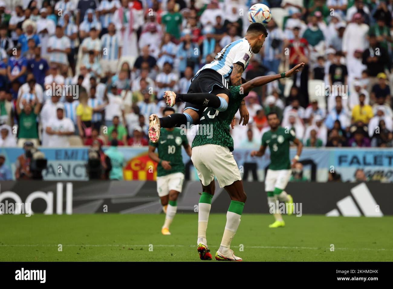
[[[160,139],[157,143],[150,142],[158,150],[158,157],[163,161],[169,161],[170,170],[165,170],[161,164],[157,165],[157,177],[166,176],[174,173],[185,172],[182,157],[182,146],[188,144],[187,136],[181,134],[180,128],[168,131],[165,128],[160,130]]]

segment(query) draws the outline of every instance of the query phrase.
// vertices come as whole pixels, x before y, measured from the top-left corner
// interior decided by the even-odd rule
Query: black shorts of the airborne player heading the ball
[[[206,68],[202,70],[191,82],[191,85],[187,91],[187,93],[213,93],[215,95],[219,93],[225,93],[226,95],[230,95],[229,92],[229,84],[224,79],[224,77],[218,73],[217,71]],[[191,108],[195,110],[199,118],[202,117],[202,113],[204,111],[204,106],[192,104],[189,102],[185,103],[184,110],[187,108]]]

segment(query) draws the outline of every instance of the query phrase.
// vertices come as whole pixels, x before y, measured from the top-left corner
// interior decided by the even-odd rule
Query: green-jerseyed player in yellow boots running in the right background
[[[270,228],[284,227],[285,222],[277,208],[277,200],[285,202],[288,214],[292,214],[293,199],[284,190],[291,176],[291,167],[299,160],[303,144],[295,137],[295,132],[289,128],[280,126],[277,114],[272,112],[267,115],[270,130],[262,135],[262,145],[259,150],[253,150],[251,156],[261,157],[264,155],[266,147],[270,150],[270,165],[265,177],[265,191],[268,196],[269,208],[273,208],[275,222],[270,224]],[[298,151],[292,159],[289,159],[289,146],[293,142],[298,147]]]

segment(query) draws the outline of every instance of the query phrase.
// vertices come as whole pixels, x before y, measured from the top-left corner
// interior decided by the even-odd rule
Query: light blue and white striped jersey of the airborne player
[[[216,57],[209,64],[205,64],[198,72],[210,68],[220,73],[226,81],[229,82],[229,78],[232,72],[233,63],[239,63],[246,70],[248,62],[252,57],[252,49],[246,38],[233,41],[232,43],[225,46]]]

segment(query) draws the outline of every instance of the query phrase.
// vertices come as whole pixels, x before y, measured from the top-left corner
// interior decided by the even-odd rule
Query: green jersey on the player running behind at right
[[[295,139],[293,130],[286,131],[279,126],[275,132],[271,130],[262,135],[262,145],[270,149],[270,170],[289,170],[291,162],[289,159],[289,142]]]

